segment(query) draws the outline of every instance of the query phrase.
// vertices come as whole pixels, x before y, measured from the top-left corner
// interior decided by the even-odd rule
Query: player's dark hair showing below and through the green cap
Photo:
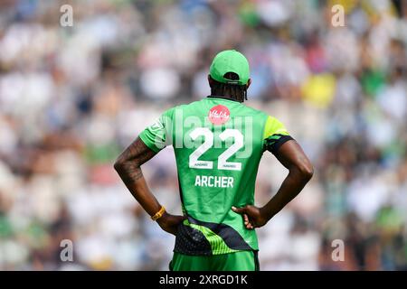
[[[239,80],[239,76],[234,72],[228,72],[223,76],[225,79]],[[247,85],[222,83],[213,79],[211,85],[211,95],[219,97],[229,97],[239,102],[247,100]]]

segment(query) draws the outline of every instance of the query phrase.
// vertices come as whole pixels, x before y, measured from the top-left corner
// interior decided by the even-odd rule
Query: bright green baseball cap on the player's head
[[[236,73],[239,79],[224,78],[228,72]],[[222,83],[245,85],[251,74],[249,61],[239,51],[221,51],[214,57],[209,74],[213,79]]]

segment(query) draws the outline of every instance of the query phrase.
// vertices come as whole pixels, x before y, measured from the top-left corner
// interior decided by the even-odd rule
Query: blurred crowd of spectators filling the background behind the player
[[[251,63],[247,105],[316,167],[258,229],[260,268],[406,270],[406,45],[403,1],[1,1],[0,270],[167,270],[175,238],[112,163],[167,107],[209,95],[223,49]],[[181,213],[172,148],[143,170]],[[271,154],[259,171],[261,205],[287,171]]]

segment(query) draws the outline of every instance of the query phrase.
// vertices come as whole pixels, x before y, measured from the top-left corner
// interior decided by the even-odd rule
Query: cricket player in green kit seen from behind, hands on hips
[[[298,195],[313,166],[276,117],[243,104],[251,79],[241,52],[218,53],[208,81],[210,96],[166,110],[114,167],[151,219],[175,235],[170,270],[259,270],[255,228]],[[141,171],[167,145],[175,151],[183,216],[166,211]],[[269,202],[256,207],[256,175],[266,152],[289,173]]]

